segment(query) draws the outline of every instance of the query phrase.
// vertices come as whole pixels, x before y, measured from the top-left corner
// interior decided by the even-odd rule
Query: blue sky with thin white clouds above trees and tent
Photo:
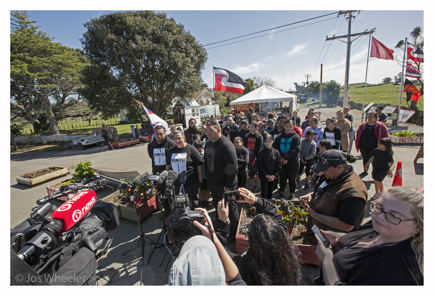
[[[116,10],[118,11],[118,10]],[[222,41],[288,23],[309,19],[337,10],[318,11],[174,11],[165,12],[202,44]],[[32,20],[37,20],[41,30],[57,42],[81,48],[79,39],[85,28],[83,23],[109,10],[29,10]],[[376,28],[374,37],[389,48],[408,36],[414,27],[423,28],[423,11],[361,10],[354,13],[351,33],[361,33]],[[407,21],[402,21],[406,19]],[[314,23],[317,22],[317,23]],[[298,27],[298,28],[295,28]],[[289,30],[288,30],[289,29]],[[281,32],[279,32],[281,31]],[[242,78],[269,77],[285,91],[294,89],[294,83],[320,80],[320,64],[323,63],[323,81],[336,80],[344,84],[346,43],[340,40],[326,41],[326,36],[342,36],[348,32],[344,16],[333,14],[315,20],[301,22],[273,31],[205,46],[208,61],[202,78],[212,87],[212,66],[232,70]],[[266,35],[257,37],[260,35]],[[244,40],[224,45],[226,43]],[[353,37],[350,58],[349,83],[365,81],[368,57],[368,36]],[[346,40],[346,39],[341,39]],[[223,46],[219,46],[223,45]],[[218,46],[218,47],[216,47]],[[213,48],[212,48],[213,47]],[[395,50],[395,53],[398,52]],[[401,59],[401,58],[400,58]],[[401,66],[397,61],[371,58],[368,67],[368,83],[380,83],[385,77],[397,75]]]

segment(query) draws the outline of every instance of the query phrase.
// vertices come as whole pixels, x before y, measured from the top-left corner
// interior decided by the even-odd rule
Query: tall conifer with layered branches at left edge
[[[11,120],[29,121],[35,132],[59,134],[57,121],[79,101],[85,57],[53,42],[26,11],[11,12]]]

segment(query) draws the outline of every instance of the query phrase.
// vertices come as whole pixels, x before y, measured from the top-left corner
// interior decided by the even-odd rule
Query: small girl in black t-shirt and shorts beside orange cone
[[[386,176],[393,177],[393,169],[395,164],[393,162],[392,141],[388,138],[380,139],[378,148],[372,152],[372,157],[365,165],[365,170],[368,170],[369,164],[372,162],[372,179],[375,182],[375,194],[371,199],[377,199],[381,192],[383,192],[383,180]]]

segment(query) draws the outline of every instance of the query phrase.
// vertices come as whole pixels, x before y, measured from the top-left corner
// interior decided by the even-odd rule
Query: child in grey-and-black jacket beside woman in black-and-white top
[[[306,183],[303,189],[307,190],[309,188],[310,181],[310,168],[315,162],[315,153],[317,152],[317,145],[314,141],[315,132],[309,130],[306,132],[306,136],[301,140],[300,149],[300,168],[298,169],[297,181],[300,180],[300,176],[303,173],[303,168],[306,167]]]

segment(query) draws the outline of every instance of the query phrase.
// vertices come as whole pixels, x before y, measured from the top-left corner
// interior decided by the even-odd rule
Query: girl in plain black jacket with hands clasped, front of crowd
[[[271,199],[275,185],[279,180],[282,162],[279,152],[273,148],[272,135],[265,134],[264,146],[264,149],[258,153],[256,164],[258,167],[258,176],[261,181],[261,197],[263,199]]]

